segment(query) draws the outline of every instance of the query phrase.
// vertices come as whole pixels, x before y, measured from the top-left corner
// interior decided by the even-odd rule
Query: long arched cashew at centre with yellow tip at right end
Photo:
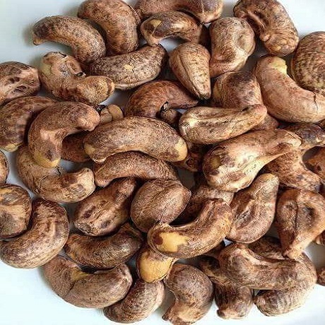
[[[167,123],[148,117],[126,117],[98,126],[83,142],[95,162],[114,153],[141,151],[154,158],[176,162],[187,156],[187,144]]]

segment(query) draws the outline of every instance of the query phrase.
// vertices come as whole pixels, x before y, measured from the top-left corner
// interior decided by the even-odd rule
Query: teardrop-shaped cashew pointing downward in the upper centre
[[[190,93],[201,100],[211,97],[210,53],[199,44],[184,43],[170,54],[170,67]]]

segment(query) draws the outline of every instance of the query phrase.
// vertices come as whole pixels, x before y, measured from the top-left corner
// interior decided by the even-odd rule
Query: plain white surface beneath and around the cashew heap
[[[159,0],[157,0],[159,1]],[[75,15],[81,0],[0,0],[0,61],[23,61],[38,65],[40,57],[52,50],[67,50],[57,44],[45,43],[39,47],[30,41],[32,25],[44,16]],[[134,4],[136,1],[128,1]],[[226,0],[224,16],[232,16],[235,0]],[[324,0],[282,0],[293,18],[300,35],[316,30],[325,30]],[[164,42],[170,48],[173,42]],[[127,96],[118,94],[110,102],[123,103]],[[12,159],[13,155],[9,157]],[[11,163],[9,183],[19,184]],[[317,266],[325,266],[325,249],[312,245],[308,250]],[[197,324],[212,325],[324,325],[325,324],[325,288],[317,285],[307,304],[280,317],[265,317],[256,307],[247,319],[225,321],[216,317],[216,307]],[[138,324],[167,324],[161,320],[161,314],[167,305],[160,308],[150,318]],[[61,300],[49,288],[42,278],[41,271],[20,270],[0,263],[0,325],[104,325],[115,324],[107,320],[100,310],[82,309]]]

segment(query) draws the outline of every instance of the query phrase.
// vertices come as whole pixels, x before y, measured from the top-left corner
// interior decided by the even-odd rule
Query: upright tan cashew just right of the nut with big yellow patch
[[[250,187],[235,194],[230,203],[235,218],[228,240],[249,243],[266,234],[276,215],[278,186],[278,177],[262,174]]]

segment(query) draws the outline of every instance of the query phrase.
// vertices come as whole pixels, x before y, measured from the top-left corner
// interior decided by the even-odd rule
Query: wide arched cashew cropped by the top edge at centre
[[[138,0],[135,9],[141,19],[166,11],[186,11],[199,19],[200,23],[211,23],[220,17],[223,0]]]

